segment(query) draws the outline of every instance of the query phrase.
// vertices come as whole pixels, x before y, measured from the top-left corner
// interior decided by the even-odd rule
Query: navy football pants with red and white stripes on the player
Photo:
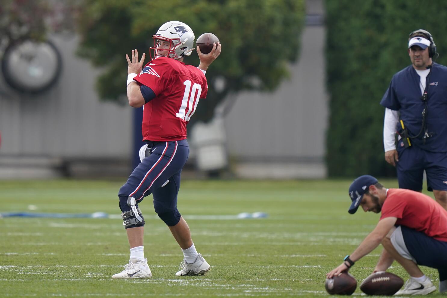
[[[157,213],[176,210],[181,169],[188,155],[189,145],[186,139],[153,143],[151,155],[135,168],[127,182],[119,189],[118,197],[134,197],[139,203],[152,193]],[[161,187],[166,180],[169,180],[169,183]],[[122,211],[129,209],[127,206],[121,208]]]

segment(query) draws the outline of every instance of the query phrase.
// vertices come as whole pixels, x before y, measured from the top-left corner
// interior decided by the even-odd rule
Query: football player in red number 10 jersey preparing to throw
[[[130,244],[130,260],[113,278],[152,277],[143,252],[144,218],[138,204],[152,193],[154,208],[179,244],[184,259],[177,276],[202,275],[210,265],[199,254],[190,229],[177,210],[181,169],[186,163],[189,146],[186,125],[200,98],[207,95],[205,77],[209,65],[219,56],[221,45],[202,54],[198,67],[183,63],[194,50],[194,33],[180,21],[163,24],[152,36],[151,61],[144,67],[145,54],[139,60],[137,50],[126,55],[128,68],[127,98],[134,108],[143,106],[143,141],[141,163],[118,193],[123,225]]]

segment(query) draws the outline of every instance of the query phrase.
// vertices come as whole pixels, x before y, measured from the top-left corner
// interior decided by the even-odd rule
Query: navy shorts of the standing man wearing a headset
[[[396,146],[399,188],[421,191],[425,170],[429,191],[447,190],[447,152],[430,152],[416,146],[405,148],[401,144],[399,141]]]

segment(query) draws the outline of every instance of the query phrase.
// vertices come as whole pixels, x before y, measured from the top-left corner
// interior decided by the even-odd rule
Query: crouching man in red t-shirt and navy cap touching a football
[[[418,265],[438,269],[439,292],[447,293],[447,211],[425,194],[385,189],[369,175],[355,179],[349,195],[350,214],[361,206],[365,212],[381,212],[380,221],[358,248],[326,276],[331,278],[348,270],[382,243],[385,249],[374,272],[386,271],[396,260],[410,275],[396,295],[426,295],[436,290]]]

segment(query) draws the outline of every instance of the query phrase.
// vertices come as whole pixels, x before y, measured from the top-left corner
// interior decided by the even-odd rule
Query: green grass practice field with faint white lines
[[[396,187],[394,180],[382,180]],[[121,182],[0,181],[0,212],[119,215]],[[176,277],[183,255],[152,207],[145,217],[144,252],[152,279],[112,280],[129,260],[121,219],[0,219],[1,297],[316,297],[325,273],[341,264],[375,227],[378,214],[348,214],[349,180],[182,182],[178,209],[211,264],[202,277]],[[31,205],[31,206],[30,206]],[[30,211],[29,209],[35,209]],[[268,218],[226,219],[262,211]],[[379,247],[350,273],[360,282]],[[394,263],[390,272],[408,274]],[[438,285],[437,271],[423,268]],[[357,288],[355,295],[360,295]],[[435,292],[430,297],[446,297]]]

